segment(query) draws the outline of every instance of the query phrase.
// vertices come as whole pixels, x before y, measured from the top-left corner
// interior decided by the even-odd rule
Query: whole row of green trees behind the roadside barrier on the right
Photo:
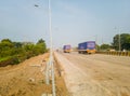
[[[112,44],[102,44],[99,46],[99,50],[101,51],[110,49],[114,49],[115,51],[130,51],[130,33],[116,35],[113,38]]]

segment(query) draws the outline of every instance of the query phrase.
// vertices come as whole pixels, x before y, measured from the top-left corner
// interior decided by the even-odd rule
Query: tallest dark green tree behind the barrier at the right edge
[[[119,41],[120,41],[121,51],[122,50],[130,51],[130,35],[129,33],[121,33],[120,36],[116,35],[114,37],[112,45],[114,46],[115,50],[119,50]]]

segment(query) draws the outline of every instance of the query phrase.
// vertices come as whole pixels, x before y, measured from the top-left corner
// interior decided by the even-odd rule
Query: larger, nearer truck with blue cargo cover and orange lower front
[[[78,44],[79,53],[95,53],[95,41],[87,41]]]

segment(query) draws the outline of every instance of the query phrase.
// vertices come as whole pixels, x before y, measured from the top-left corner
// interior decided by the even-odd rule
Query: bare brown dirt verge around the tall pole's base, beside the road
[[[49,54],[39,55],[15,66],[0,67],[0,96],[52,96],[52,85],[46,84],[46,61]],[[55,65],[57,96],[66,96],[67,90]],[[56,68],[57,67],[57,68]],[[43,95],[44,96],[44,95]]]

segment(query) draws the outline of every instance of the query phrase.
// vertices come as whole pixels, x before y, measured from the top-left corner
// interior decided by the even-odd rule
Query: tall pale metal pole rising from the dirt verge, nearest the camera
[[[50,31],[50,66],[52,74],[52,95],[55,94],[55,80],[54,80],[54,64],[53,64],[53,47],[52,47],[52,19],[51,19],[51,0],[49,0],[49,31]]]

